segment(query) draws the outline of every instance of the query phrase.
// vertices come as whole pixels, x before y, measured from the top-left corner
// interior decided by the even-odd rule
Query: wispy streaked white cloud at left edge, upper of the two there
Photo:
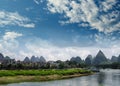
[[[6,25],[17,25],[26,28],[34,28],[35,24],[27,17],[21,16],[17,12],[0,11],[0,27]]]

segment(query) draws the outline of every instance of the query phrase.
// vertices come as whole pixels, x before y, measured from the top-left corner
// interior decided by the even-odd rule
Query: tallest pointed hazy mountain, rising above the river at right
[[[107,62],[107,58],[106,58],[106,56],[104,55],[104,53],[100,50],[100,51],[97,53],[96,57],[94,58],[93,64],[94,64],[94,65],[98,65],[98,64],[105,63],[105,62]]]

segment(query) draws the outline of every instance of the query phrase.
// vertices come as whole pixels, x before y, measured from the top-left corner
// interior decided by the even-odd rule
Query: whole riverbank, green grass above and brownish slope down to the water
[[[1,70],[0,84],[59,80],[59,79],[87,76],[90,74],[92,74],[91,71],[84,69]]]

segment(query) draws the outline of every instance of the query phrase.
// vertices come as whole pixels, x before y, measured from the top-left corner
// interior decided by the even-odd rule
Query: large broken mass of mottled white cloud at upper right
[[[99,7],[94,0],[47,0],[47,8],[51,13],[63,14],[67,21],[61,21],[62,24],[87,22],[92,29],[104,33],[120,30],[118,21],[120,13],[114,9],[117,1],[105,0],[98,2]],[[114,9],[112,13],[108,12],[111,9]],[[106,14],[104,14],[105,12]]]

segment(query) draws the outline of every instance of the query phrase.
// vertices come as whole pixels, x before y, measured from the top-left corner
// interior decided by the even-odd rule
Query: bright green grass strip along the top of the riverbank
[[[0,77],[2,76],[17,76],[17,75],[23,75],[23,76],[46,76],[46,75],[73,75],[76,73],[84,74],[84,73],[90,73],[89,70],[84,69],[48,69],[48,70],[1,70],[0,71]]]

